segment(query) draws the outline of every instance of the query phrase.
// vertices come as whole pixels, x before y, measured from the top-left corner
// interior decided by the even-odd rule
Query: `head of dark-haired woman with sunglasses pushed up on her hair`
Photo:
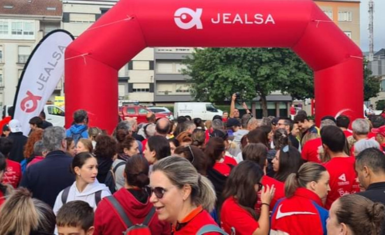
[[[285,182],[291,173],[298,172],[304,162],[301,153],[296,148],[286,145],[277,151],[272,163],[275,172],[274,178]]]

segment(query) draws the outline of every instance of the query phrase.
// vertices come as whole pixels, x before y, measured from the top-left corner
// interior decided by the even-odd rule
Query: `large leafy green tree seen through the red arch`
[[[276,90],[293,98],[313,97],[313,73],[289,49],[205,48],[184,60],[196,100],[230,99],[241,92],[244,99],[259,95],[263,116],[268,115],[266,96]]]

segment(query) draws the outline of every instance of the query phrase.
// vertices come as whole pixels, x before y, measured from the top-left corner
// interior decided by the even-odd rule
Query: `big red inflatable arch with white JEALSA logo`
[[[363,115],[362,52],[312,0],[120,0],[66,50],[66,124],[117,124],[117,72],[145,47],[287,47],[315,76],[316,121]],[[292,84],[301,86],[301,84]]]

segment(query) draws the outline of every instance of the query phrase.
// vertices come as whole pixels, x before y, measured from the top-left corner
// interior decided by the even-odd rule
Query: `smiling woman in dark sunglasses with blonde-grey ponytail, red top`
[[[150,186],[150,201],[159,219],[172,224],[174,235],[196,234],[205,225],[216,225],[209,214],[216,200],[213,185],[189,160],[171,156],[158,161]]]

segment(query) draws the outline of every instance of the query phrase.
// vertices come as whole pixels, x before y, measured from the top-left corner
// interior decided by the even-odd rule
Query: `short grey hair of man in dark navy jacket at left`
[[[61,126],[50,126],[43,131],[43,143],[48,152],[62,150],[62,142],[66,138],[66,129]]]

